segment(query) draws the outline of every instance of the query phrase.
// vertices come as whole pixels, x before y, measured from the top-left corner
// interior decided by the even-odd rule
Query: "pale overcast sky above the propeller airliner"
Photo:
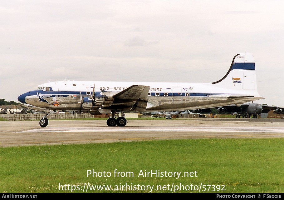
[[[242,52],[284,106],[284,1],[2,0],[0,99],[54,80],[211,83]]]

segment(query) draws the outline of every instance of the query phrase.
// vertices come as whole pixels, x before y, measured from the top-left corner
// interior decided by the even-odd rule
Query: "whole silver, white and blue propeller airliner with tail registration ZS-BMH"
[[[125,111],[173,111],[240,105],[262,99],[257,92],[251,53],[234,56],[223,78],[213,83],[136,83],[57,81],[40,85],[18,97],[22,107],[44,111],[40,126],[46,127],[51,110],[80,110],[110,114],[108,126],[125,126]],[[122,117],[115,119],[115,112]]]

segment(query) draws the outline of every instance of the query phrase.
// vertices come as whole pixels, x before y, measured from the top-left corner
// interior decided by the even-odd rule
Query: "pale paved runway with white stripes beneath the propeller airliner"
[[[128,120],[108,127],[106,120],[1,121],[0,147],[130,142],[196,138],[284,138],[284,119],[190,118]]]

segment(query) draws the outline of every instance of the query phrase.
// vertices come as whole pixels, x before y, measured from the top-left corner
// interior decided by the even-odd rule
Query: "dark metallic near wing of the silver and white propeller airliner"
[[[115,94],[113,96],[114,100],[110,106],[115,109],[132,107],[131,110],[135,111],[146,110],[149,88],[149,86],[145,85],[132,85]]]

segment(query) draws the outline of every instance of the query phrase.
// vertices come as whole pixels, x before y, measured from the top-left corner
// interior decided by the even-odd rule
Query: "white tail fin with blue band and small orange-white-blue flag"
[[[235,55],[227,74],[212,84],[228,89],[257,90],[255,63],[252,54],[239,53]]]

